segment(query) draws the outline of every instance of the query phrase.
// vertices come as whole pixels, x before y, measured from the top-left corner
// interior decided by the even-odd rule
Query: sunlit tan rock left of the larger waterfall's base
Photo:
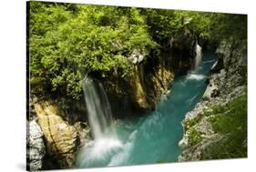
[[[49,101],[37,102],[34,108],[38,118],[38,124],[44,133],[46,156],[51,157],[51,160],[56,162],[51,163],[52,165],[50,166],[59,168],[72,167],[77,148],[81,145],[81,142],[84,142],[82,141],[82,137],[84,136],[81,135],[85,135],[87,132],[83,131],[83,127],[80,127],[79,123],[74,126],[69,125],[61,117],[65,116],[63,115],[64,112],[54,103],[50,103]],[[33,130],[31,129],[31,131]],[[45,160],[46,163],[51,161],[49,159]]]

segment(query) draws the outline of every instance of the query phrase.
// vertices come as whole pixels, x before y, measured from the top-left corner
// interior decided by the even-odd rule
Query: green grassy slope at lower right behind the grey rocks
[[[213,111],[218,114],[210,116],[210,124],[226,139],[208,150],[203,158],[247,157],[247,95],[234,99],[227,106],[215,106]]]

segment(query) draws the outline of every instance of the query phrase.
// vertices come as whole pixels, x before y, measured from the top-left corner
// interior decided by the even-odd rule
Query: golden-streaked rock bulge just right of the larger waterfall
[[[171,67],[162,63],[150,67],[148,64],[136,64],[128,78],[113,75],[113,78],[103,81],[111,107],[115,116],[136,115],[137,112],[152,110],[159,98],[170,88],[174,78]]]

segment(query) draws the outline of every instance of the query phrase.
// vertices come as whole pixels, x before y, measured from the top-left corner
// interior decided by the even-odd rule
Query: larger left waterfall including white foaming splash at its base
[[[97,80],[83,79],[87,115],[94,140],[88,142],[77,157],[78,167],[106,166],[107,159],[122,147],[113,122],[111,107],[104,87]]]

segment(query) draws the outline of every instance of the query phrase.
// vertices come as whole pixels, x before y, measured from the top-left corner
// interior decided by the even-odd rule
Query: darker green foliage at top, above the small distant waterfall
[[[159,45],[168,44],[171,37],[183,35],[185,31],[201,37],[209,36],[210,14],[166,9],[144,9],[150,35]]]

